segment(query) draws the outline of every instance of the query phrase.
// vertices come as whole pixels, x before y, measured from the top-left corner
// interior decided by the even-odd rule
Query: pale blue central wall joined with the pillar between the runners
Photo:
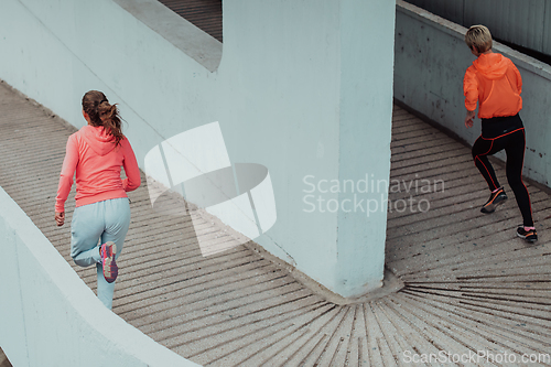
[[[224,45],[202,48],[170,34],[193,28],[163,26],[156,1],[117,2],[0,0],[0,77],[76,127],[83,94],[104,90],[140,165],[165,139],[219,121],[231,162],[270,172],[278,220],[258,244],[341,295],[380,287],[386,188],[326,184],[388,180],[395,4],[225,1]],[[355,194],[361,207],[346,206]]]

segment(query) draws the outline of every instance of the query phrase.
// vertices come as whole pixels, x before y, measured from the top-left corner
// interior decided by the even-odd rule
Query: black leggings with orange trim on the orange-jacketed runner
[[[493,155],[503,149],[505,149],[507,153],[507,181],[515,193],[517,205],[522,214],[523,225],[526,227],[532,227],[533,220],[530,195],[522,182],[522,165],[525,162],[526,149],[525,128],[518,128],[497,136],[496,138],[483,138],[483,136],[480,136],[476,139],[473,144],[473,159],[476,168],[488,183],[490,191],[501,187],[487,155]]]

